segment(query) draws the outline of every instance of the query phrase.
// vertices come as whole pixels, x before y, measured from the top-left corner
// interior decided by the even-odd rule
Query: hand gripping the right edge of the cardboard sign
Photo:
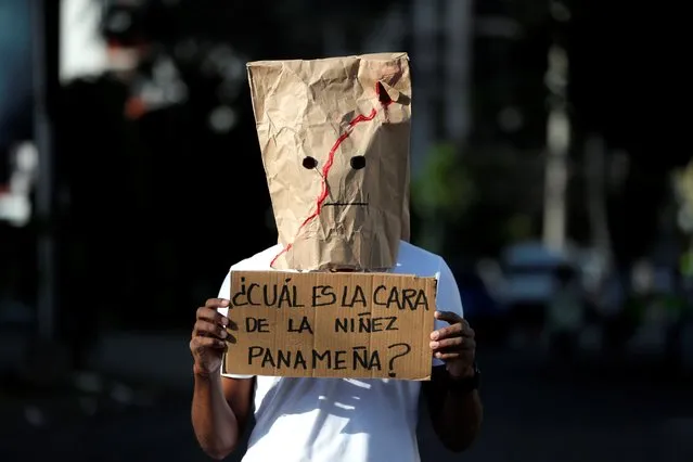
[[[431,334],[433,356],[445,361],[448,373],[453,378],[474,375],[476,341],[474,330],[459,315],[451,311],[436,311],[435,317],[447,325]]]

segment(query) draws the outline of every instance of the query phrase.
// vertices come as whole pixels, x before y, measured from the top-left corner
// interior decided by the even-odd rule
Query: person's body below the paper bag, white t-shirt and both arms
[[[231,270],[269,270],[278,252],[279,245],[270,247]],[[441,257],[406,242],[400,243],[393,270],[438,278],[429,382],[222,374],[223,351],[227,345],[233,348],[226,329],[229,320],[223,316],[229,306],[227,275],[219,296],[197,309],[190,342],[194,357],[192,421],[205,452],[218,460],[229,455],[255,409],[256,424],[244,462],[418,461],[420,392],[427,399],[441,442],[452,451],[466,449],[477,436],[483,411],[476,342],[462,318],[458,285]]]

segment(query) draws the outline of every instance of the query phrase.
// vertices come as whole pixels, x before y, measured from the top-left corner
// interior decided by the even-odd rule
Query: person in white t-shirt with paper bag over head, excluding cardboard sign
[[[483,415],[474,330],[444,258],[407,242],[408,57],[265,61],[248,64],[248,77],[279,243],[233,265],[218,296],[197,309],[190,349],[200,445],[226,458],[254,413],[244,462],[416,462],[423,394],[441,442],[466,449]],[[335,130],[324,114],[337,110],[345,115]],[[272,270],[435,277],[431,380],[234,373],[224,358],[241,335],[227,318],[231,273]]]

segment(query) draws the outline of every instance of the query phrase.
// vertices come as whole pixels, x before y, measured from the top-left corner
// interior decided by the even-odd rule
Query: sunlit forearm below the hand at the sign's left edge
[[[235,448],[239,423],[223,397],[220,375],[195,374],[192,424],[200,446],[209,457],[221,460]]]

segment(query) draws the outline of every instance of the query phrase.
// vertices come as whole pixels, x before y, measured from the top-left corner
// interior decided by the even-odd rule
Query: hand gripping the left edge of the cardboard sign
[[[231,326],[229,319],[217,309],[228,306],[229,300],[209,298],[204,307],[197,308],[195,326],[190,341],[190,350],[195,360],[193,367],[195,374],[209,375],[221,369],[227,342],[233,342],[233,337],[227,331],[227,328]]]

